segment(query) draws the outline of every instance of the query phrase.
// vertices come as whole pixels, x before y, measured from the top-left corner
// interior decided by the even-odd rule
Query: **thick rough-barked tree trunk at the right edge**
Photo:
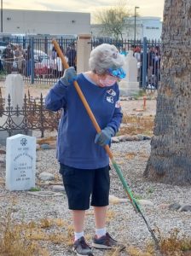
[[[145,177],[191,183],[191,0],[165,0],[153,134]]]

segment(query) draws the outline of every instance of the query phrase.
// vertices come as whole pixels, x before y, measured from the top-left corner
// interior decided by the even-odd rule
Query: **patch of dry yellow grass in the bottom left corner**
[[[40,241],[72,245],[73,230],[60,218],[43,218],[38,222],[17,223],[9,210],[0,219],[0,254],[2,256],[49,256]],[[52,228],[56,229],[51,230]]]

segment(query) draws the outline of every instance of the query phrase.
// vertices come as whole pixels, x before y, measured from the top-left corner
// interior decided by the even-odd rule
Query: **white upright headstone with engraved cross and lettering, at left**
[[[6,189],[27,190],[35,187],[36,137],[17,134],[7,138]]]

